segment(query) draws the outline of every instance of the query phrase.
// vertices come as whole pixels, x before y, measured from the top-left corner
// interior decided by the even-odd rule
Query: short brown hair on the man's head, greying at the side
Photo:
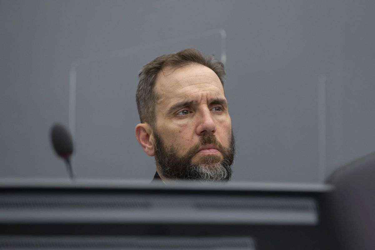
[[[148,123],[151,127],[154,127],[156,123],[154,104],[159,100],[160,94],[156,93],[154,87],[159,72],[165,68],[175,69],[189,64],[201,64],[212,69],[224,87],[224,65],[213,55],[203,54],[194,48],[161,55],[145,64],[138,74],[136,102],[141,123]]]

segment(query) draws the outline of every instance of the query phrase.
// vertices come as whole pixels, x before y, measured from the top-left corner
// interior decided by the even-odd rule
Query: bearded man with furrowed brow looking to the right
[[[223,64],[196,49],[161,55],[139,72],[135,136],[155,180],[229,181],[234,136]]]

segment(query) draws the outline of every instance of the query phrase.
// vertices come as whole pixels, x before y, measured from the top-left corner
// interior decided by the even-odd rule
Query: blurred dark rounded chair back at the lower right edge
[[[333,172],[329,202],[340,249],[375,249],[375,152]]]

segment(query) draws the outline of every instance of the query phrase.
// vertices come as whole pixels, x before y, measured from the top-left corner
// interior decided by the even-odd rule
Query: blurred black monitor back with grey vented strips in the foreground
[[[0,182],[0,249],[332,249],[320,184]]]

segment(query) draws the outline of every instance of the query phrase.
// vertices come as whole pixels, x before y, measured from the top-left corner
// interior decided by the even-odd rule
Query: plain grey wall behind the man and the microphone
[[[72,63],[116,55],[77,68],[75,172],[151,180],[137,72],[184,47],[220,58],[208,31],[222,29],[233,181],[321,182],[375,151],[374,13],[371,0],[0,1],[0,176],[66,178],[49,129],[69,124]]]

